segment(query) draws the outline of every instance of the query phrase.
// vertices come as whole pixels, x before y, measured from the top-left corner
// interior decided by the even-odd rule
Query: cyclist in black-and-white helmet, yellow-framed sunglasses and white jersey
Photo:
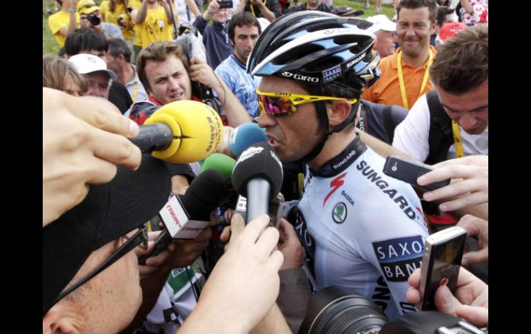
[[[379,78],[372,23],[294,12],[263,32],[248,61],[269,144],[283,162],[308,165],[296,230],[314,288],[344,286],[390,319],[414,311],[408,276],[428,229],[410,185],[383,174],[384,160],[354,131],[361,91]],[[357,28],[359,27],[359,28]]]

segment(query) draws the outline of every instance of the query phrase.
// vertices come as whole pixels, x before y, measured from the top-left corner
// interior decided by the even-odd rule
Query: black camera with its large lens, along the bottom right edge
[[[328,286],[310,298],[299,334],[488,334],[465,320],[437,311],[410,312],[388,322],[380,306],[354,289]]]

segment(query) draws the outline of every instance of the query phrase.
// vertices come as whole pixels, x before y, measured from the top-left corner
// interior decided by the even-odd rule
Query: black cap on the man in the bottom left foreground
[[[150,220],[170,191],[166,166],[143,154],[137,171],[118,166],[109,183],[90,185],[83,202],[44,227],[43,315],[92,251]]]

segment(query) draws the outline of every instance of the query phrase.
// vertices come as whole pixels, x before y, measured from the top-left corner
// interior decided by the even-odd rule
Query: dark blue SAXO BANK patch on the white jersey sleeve
[[[372,242],[372,248],[385,279],[390,282],[405,282],[421,267],[424,249],[421,236]]]

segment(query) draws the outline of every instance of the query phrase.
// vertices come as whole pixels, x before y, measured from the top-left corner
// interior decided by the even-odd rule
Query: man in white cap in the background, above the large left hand
[[[76,54],[68,61],[72,62],[77,72],[82,74],[87,81],[89,96],[99,96],[106,100],[109,98],[109,87],[111,80],[117,80],[114,72],[107,69],[107,64],[99,56],[94,54]]]

